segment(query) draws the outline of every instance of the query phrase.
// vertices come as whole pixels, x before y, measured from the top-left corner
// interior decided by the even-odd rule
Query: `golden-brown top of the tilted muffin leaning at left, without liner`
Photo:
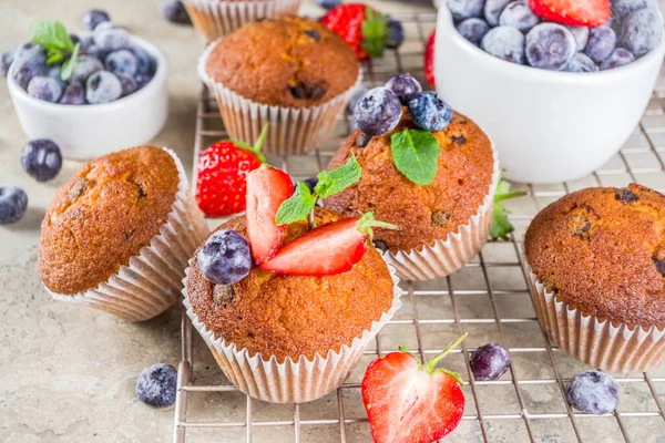
[[[175,202],[171,155],[139,146],[88,163],[55,194],[42,222],[39,272],[47,288],[98,287],[160,234]]]

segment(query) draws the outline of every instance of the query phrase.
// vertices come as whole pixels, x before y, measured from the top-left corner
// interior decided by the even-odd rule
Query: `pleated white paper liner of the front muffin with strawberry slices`
[[[183,280],[183,303],[192,324],[203,337],[224,374],[236,388],[249,396],[272,403],[303,403],[320,399],[339,388],[360,360],[367,343],[401,307],[399,298],[405,291],[398,286],[399,278],[395,269],[390,265],[388,269],[395,284],[390,309],[383,312],[378,321],[374,321],[369,330],[362,331],[361,337],[355,338],[350,347],[344,344],[339,351],[329,350],[325,357],[316,353],[314,360],[308,360],[305,356],[297,360],[288,357],[283,363],[279,363],[275,356],[265,360],[260,353],[250,356],[246,348],[237,349],[234,343],[215,337],[198,319],[190,303],[186,278]],[[190,268],[186,275],[190,275]]]

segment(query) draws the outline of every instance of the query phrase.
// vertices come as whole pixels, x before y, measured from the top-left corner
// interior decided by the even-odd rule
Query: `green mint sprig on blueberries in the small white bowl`
[[[48,65],[64,60],[60,70],[60,78],[63,81],[72,76],[81,44],[74,44],[64,24],[59,21],[37,21],[30,25],[30,40],[47,50]]]

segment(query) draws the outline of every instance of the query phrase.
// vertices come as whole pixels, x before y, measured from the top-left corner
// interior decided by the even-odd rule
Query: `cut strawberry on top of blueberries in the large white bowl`
[[[594,28],[612,17],[610,0],[529,0],[536,16],[562,24]]]

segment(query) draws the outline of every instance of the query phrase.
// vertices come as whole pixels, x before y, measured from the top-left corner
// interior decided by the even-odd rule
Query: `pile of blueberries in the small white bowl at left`
[[[60,104],[113,102],[145,86],[154,76],[155,61],[130,41],[129,32],[114,27],[109,14],[92,10],[83,18],[91,35],[70,34],[80,43],[73,73],[61,79],[62,64],[47,65],[47,51],[27,43],[0,56],[0,71],[11,75],[31,96]]]

